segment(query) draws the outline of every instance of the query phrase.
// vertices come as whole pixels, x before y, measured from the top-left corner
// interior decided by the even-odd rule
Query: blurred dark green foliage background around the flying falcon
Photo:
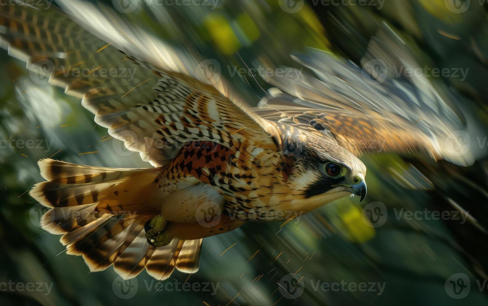
[[[465,13],[455,14],[444,0],[388,0],[382,9],[313,5],[310,0],[300,12],[290,14],[278,0],[222,0],[215,9],[142,2],[139,10],[126,14],[135,25],[240,68],[260,63],[293,66],[290,52],[305,47],[331,51],[359,63],[368,39],[384,21],[417,50],[421,66],[469,68],[464,82],[432,81],[445,82],[464,94],[466,103],[479,110],[479,120],[487,123],[486,6],[473,4]],[[363,221],[364,204],[359,204],[357,197],[335,201],[285,225],[247,224],[206,238],[198,273],[188,278],[175,272],[168,280],[219,284],[215,295],[155,292],[157,283],[151,283],[152,278],[142,272],[135,281],[137,294],[121,299],[115,293],[117,275],[112,268],[89,273],[81,257],[63,253],[59,236],[44,234],[38,222],[45,209],[25,191],[42,181],[36,165],[40,158],[52,156],[108,167],[149,164],[137,153],[116,153],[122,144],[113,139],[102,141],[107,131],[93,123],[93,116],[78,99],[58,88],[33,84],[24,64],[3,50],[0,71],[1,138],[44,141],[42,148],[18,146],[0,151],[0,282],[53,283],[49,294],[0,291],[4,305],[227,305],[231,300],[230,304],[239,305],[488,305],[486,291],[480,291],[475,281],[488,278],[484,272],[487,248],[482,246],[487,237],[479,227],[453,220],[397,220],[393,213],[393,209],[402,208],[452,210],[450,198],[468,207],[481,225],[486,224],[486,160],[459,169],[392,155],[364,159],[368,168],[366,202],[386,204],[389,214],[384,226],[373,228]],[[265,95],[263,89],[269,88],[259,76],[232,77],[225,70],[223,74],[252,105]],[[47,148],[46,143],[52,147]],[[99,153],[79,155],[92,151]],[[414,166],[428,176],[434,190],[414,190],[392,174],[416,171]],[[296,299],[284,298],[277,281],[297,271],[304,276],[305,291]],[[447,295],[445,283],[450,275],[460,272],[471,279],[471,291],[463,300],[454,300]],[[376,291],[314,290],[312,286],[341,281],[385,282],[386,286],[381,295]]]

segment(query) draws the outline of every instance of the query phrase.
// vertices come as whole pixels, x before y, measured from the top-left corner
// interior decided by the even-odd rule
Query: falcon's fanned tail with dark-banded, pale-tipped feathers
[[[166,247],[152,247],[144,224],[158,214],[161,200],[154,180],[161,171],[76,165],[52,159],[39,161],[47,181],[30,191],[52,209],[41,217],[41,226],[62,234],[67,253],[81,255],[90,271],[110,266],[124,279],[144,268],[149,275],[167,279],[175,268],[198,270],[202,240],[178,238]]]

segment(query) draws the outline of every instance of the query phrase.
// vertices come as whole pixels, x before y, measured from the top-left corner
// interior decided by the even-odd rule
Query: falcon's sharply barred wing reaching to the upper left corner
[[[217,91],[184,75],[194,60],[153,42],[160,47],[159,55],[168,57],[156,61],[163,67],[156,66],[126,56],[54,5],[19,2],[23,5],[0,6],[0,45],[26,61],[39,83],[45,78],[65,88],[67,94],[81,97],[82,105],[95,114],[96,123],[123,140],[127,149],[140,152],[143,160],[162,166],[188,141],[213,141],[230,147],[233,140],[242,143],[247,139],[255,147],[275,146],[244,108],[223,95],[222,82],[217,83]],[[76,3],[81,10],[83,6]],[[86,11],[96,12],[95,6]],[[95,17],[99,19],[92,20],[94,27],[112,26],[112,42],[132,41],[115,33],[123,29],[120,20],[101,20],[101,14]],[[105,39],[111,42],[109,37]]]

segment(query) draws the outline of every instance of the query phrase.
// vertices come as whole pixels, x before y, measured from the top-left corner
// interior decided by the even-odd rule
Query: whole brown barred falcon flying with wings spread
[[[129,279],[145,268],[160,280],[175,268],[194,273],[205,237],[249,221],[286,220],[351,194],[363,200],[366,167],[357,156],[474,161],[455,150],[449,135],[463,122],[428,82],[419,93],[412,82],[368,79],[350,62],[309,50],[293,55],[309,71],[268,79],[276,87],[249,108],[223,78],[205,82],[195,54],[175,51],[107,8],[59,1],[71,15],[28,2],[0,6],[1,46],[81,98],[98,125],[153,166],[39,161],[46,181],[30,194],[52,208],[41,225],[61,234],[67,253],[82,255],[91,271],[113,265]],[[402,43],[385,31],[365,58],[393,54],[388,68],[408,58]],[[103,68],[134,75],[95,74]]]

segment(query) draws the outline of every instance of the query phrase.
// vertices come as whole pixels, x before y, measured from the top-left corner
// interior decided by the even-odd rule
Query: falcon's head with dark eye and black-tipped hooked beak
[[[366,166],[355,155],[315,134],[300,134],[292,138],[293,150],[284,153],[293,156],[292,170],[295,190],[302,191],[305,199],[319,200],[323,204],[347,195],[366,196]],[[290,141],[291,143],[291,141]],[[325,203],[324,203],[325,202]]]

